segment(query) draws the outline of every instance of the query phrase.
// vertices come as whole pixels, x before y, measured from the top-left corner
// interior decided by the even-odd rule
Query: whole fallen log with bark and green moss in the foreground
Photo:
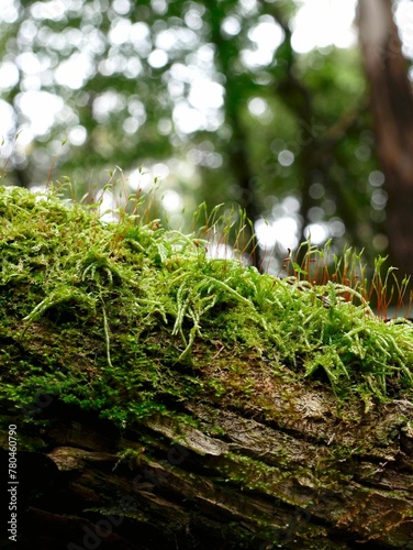
[[[2,548],[413,549],[410,323],[0,197]]]

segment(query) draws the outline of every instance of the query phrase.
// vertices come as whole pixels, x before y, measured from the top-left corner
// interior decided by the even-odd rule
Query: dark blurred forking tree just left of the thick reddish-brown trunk
[[[316,205],[310,195],[310,187],[315,182],[322,182],[334,199],[337,208],[337,215],[345,220],[347,234],[351,244],[362,249],[365,243],[360,240],[358,227],[359,217],[357,212],[357,202],[353,194],[331,169],[332,158],[337,155],[336,147],[343,139],[349,133],[355,132],[360,112],[365,110],[364,105],[357,106],[341,113],[338,120],[326,124],[320,119],[314,107],[314,90],[306,86],[304,79],[300,78],[300,56],[292,47],[292,30],[289,20],[282,13],[278,3],[265,3],[265,11],[274,16],[277,23],[282,28],[284,41],[280,47],[283,48],[283,55],[279,63],[275,65],[276,69],[281,65],[283,67],[282,76],[277,75],[275,79],[275,96],[279,97],[286,108],[298,118],[299,130],[295,134],[295,141],[299,153],[295,163],[299,170],[300,195],[301,195],[301,228],[300,242],[305,241],[308,235],[305,229],[311,223],[310,210]],[[339,163],[339,161],[338,161]],[[303,260],[305,249],[301,249],[297,256],[299,263]]]

